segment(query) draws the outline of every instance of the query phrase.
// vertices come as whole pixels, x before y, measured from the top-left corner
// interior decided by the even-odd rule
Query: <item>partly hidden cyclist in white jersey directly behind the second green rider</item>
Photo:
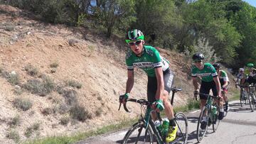
[[[228,94],[228,84],[229,84],[228,74],[224,70],[220,70],[220,64],[219,63],[213,64],[213,67],[217,71],[218,77],[220,79],[220,87],[223,90],[222,91],[222,96],[223,96],[223,99],[225,101],[224,111],[228,111],[229,110],[228,96],[227,96],[227,94]]]

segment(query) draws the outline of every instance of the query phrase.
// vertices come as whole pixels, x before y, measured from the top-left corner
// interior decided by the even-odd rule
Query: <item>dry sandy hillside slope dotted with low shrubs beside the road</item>
[[[125,91],[124,38],[88,28],[51,25],[33,14],[0,5],[0,143],[73,135],[137,116],[117,111]],[[193,93],[189,57],[159,48],[183,92]],[[231,76],[230,76],[231,77]],[[146,74],[136,70],[132,97],[146,98]]]

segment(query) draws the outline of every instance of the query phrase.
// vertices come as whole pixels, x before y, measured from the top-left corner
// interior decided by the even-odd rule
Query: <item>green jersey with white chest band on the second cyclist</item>
[[[203,70],[199,70],[196,65],[192,66],[192,77],[200,77],[203,82],[212,82],[213,77],[216,76],[218,76],[218,74],[210,63],[205,63]]]

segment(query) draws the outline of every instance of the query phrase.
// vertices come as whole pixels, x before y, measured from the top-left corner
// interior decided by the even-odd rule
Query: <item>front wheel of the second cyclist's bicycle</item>
[[[203,140],[203,137],[206,135],[206,131],[208,129],[208,122],[209,122],[209,115],[206,116],[206,128],[203,130],[201,129],[201,121],[203,121],[203,113],[205,113],[206,111],[208,111],[208,109],[206,108],[206,106],[203,106],[203,110],[200,113],[200,116],[198,118],[198,125],[197,125],[197,129],[196,129],[196,135],[197,135],[197,140],[198,143],[200,143]]]

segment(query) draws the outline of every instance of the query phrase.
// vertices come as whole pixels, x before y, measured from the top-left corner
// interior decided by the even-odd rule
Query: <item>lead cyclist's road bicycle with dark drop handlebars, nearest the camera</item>
[[[171,105],[174,102],[174,94],[181,89],[172,88]],[[156,128],[154,121],[151,118],[152,103],[146,101],[145,99],[127,99],[127,101],[132,101],[141,104],[141,118],[139,118],[137,123],[129,128],[129,131],[124,135],[122,143],[154,143],[155,141],[159,144],[167,144],[165,138],[161,135],[160,131]],[[126,104],[124,104],[124,110],[130,112]],[[119,105],[120,109],[121,104]],[[143,116],[144,115],[144,116]],[[159,121],[161,121],[160,113],[157,113]],[[169,144],[174,143],[186,143],[188,140],[188,119],[184,113],[174,113],[174,121],[176,126],[178,126],[178,131],[176,133],[176,139]],[[155,139],[154,139],[155,138]]]

